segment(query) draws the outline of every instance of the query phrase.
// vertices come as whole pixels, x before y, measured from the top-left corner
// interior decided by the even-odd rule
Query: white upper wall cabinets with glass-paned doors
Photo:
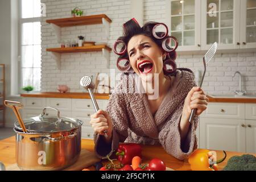
[[[166,0],[166,5],[177,51],[204,51],[214,42],[218,50],[256,48],[254,0]]]

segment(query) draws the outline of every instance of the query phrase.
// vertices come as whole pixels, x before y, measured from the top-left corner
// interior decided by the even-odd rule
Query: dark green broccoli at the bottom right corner
[[[233,156],[223,171],[256,171],[256,157],[249,154]]]

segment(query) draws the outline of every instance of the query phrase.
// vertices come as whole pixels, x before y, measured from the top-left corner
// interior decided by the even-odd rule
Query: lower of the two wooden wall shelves
[[[84,47],[68,47],[68,48],[48,48],[46,51],[57,52],[57,53],[73,53],[73,52],[94,52],[102,51],[102,49],[107,49],[111,51],[112,49],[106,45],[98,46],[84,46]]]

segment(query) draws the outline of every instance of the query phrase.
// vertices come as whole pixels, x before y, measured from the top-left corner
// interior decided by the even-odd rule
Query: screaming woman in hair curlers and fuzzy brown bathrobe
[[[198,115],[207,109],[208,98],[196,87],[190,69],[176,69],[176,41],[166,32],[156,32],[162,23],[148,22],[140,27],[135,19],[123,24],[123,36],[114,52],[119,56],[118,68],[125,72],[110,96],[106,111],[91,115],[95,151],[104,158],[117,149],[119,142],[161,144],[177,159],[185,159],[197,148]],[[127,60],[124,65],[119,64]],[[168,67],[168,68],[167,68]],[[138,89],[141,78],[142,90]],[[154,85],[154,86],[152,86]],[[152,96],[157,90],[157,97]],[[197,109],[193,122],[188,121],[192,109]],[[105,133],[107,137],[105,137]]]

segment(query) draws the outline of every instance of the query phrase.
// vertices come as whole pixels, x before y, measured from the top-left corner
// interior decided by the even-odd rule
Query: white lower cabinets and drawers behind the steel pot
[[[90,99],[75,99],[75,98],[36,98],[23,97],[22,101],[24,108],[22,118],[31,118],[42,114],[43,107],[50,106],[60,111],[60,116],[77,118],[83,121],[82,138],[93,139],[93,128],[90,126],[90,115],[95,113],[92,100]],[[108,100],[97,100],[100,109],[105,110],[108,105]],[[46,109],[46,116],[56,116],[56,111]]]

